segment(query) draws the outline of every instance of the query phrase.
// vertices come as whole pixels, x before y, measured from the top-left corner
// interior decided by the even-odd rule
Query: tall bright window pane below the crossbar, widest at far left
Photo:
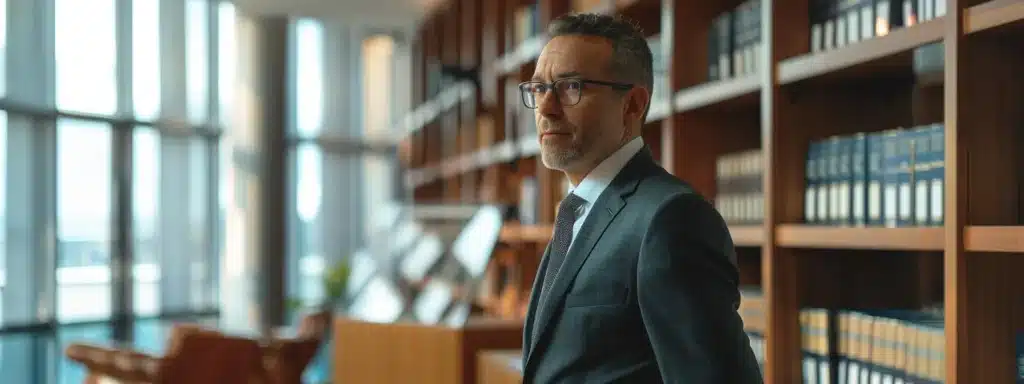
[[[111,129],[57,121],[57,319],[111,315]]]

